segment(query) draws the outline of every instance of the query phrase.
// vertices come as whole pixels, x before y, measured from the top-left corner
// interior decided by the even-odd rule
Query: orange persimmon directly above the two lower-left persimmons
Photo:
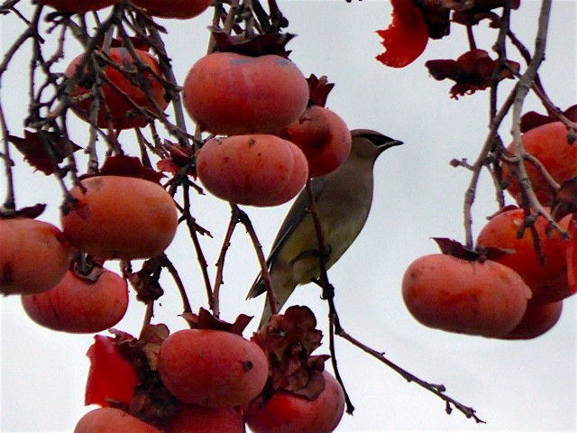
[[[76,201],[61,215],[70,243],[101,259],[147,259],[163,253],[176,234],[177,207],[159,184],[124,176],[82,180]]]

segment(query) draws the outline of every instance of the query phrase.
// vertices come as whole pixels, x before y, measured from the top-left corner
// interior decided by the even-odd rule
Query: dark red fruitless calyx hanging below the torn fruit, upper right
[[[515,61],[506,60],[506,63],[508,68],[500,69],[497,76],[499,81],[513,78],[513,71],[518,72],[520,68]],[[476,49],[465,52],[457,60],[429,60],[425,66],[433,78],[455,81],[450,93],[457,98],[490,87],[495,79],[495,69],[499,68],[499,60],[492,60],[487,51]]]

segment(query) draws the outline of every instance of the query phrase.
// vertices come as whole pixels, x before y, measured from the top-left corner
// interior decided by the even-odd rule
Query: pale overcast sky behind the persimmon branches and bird
[[[512,28],[532,49],[540,2],[524,0],[513,13]],[[418,256],[437,251],[431,236],[463,241],[463,194],[470,175],[453,169],[453,158],[474,160],[489,123],[488,93],[479,92],[458,101],[449,98],[450,82],[429,78],[426,60],[456,58],[467,51],[461,28],[453,26],[450,39],[431,41],[425,54],[405,69],[387,69],[374,56],[380,53],[377,29],[389,23],[389,1],[279,0],[289,18],[289,31],[298,37],[289,43],[291,59],[308,76],[326,75],[336,83],[328,106],[353,128],[371,128],[405,142],[383,154],[375,166],[375,196],[365,230],[329,272],[336,288],[336,305],[345,329],[372,347],[385,351],[395,363],[429,382],[442,382],[447,393],[474,407],[486,425],[454,411],[444,413],[444,402],[369,355],[338,341],[337,356],[347,390],[356,407],[344,416],[337,431],[574,431],[576,424],[576,318],[575,299],[564,303],[563,315],[545,336],[529,341],[499,341],[459,336],[420,326],[404,307],[400,281],[408,264]],[[166,41],[181,81],[190,66],[206,51],[212,12],[193,21],[161,21],[169,29]],[[15,34],[13,17],[3,17],[3,51]],[[574,104],[577,95],[575,29],[577,13],[571,0],[555,0],[547,58],[541,69],[545,89],[557,106]],[[482,24],[475,29],[479,48],[490,51],[495,31]],[[29,50],[14,60],[2,87],[12,134],[22,134],[26,109],[24,88]],[[509,52],[513,52],[512,49]],[[71,47],[67,56],[78,54]],[[62,64],[62,70],[66,63]],[[510,88],[506,83],[501,93]],[[526,111],[543,111],[529,97]],[[86,126],[77,123],[73,139],[86,143]],[[510,122],[501,133],[508,142]],[[129,134],[123,144],[136,154]],[[16,165],[20,207],[47,202],[41,219],[59,224],[61,196],[54,180]],[[509,199],[509,203],[510,203]],[[193,202],[195,217],[215,236],[203,239],[211,273],[228,224],[226,203],[211,196]],[[265,253],[289,205],[245,208],[264,245]],[[487,176],[481,179],[474,205],[474,230],[497,210]],[[181,270],[194,309],[205,306],[202,280],[185,231],[168,250]],[[239,313],[259,315],[263,299],[244,297],[258,272],[258,263],[242,227],[234,234],[222,290],[223,318]],[[185,327],[177,318],[180,303],[170,288],[157,309],[155,322],[171,331]],[[127,316],[117,326],[137,334],[143,307],[131,298]],[[289,304],[307,304],[316,311],[319,327],[326,329],[326,307],[319,290],[299,288]],[[71,336],[41,328],[25,316],[17,297],[0,299],[0,430],[2,432],[71,431],[85,408],[85,356],[92,336]],[[255,320],[256,322],[256,320]],[[246,336],[254,329],[249,327]],[[105,334],[105,333],[103,333]],[[319,353],[328,352],[328,343]]]

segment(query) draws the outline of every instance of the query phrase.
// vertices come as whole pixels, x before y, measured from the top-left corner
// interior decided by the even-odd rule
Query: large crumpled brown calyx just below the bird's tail
[[[325,389],[325,361],[328,355],[311,355],[321,345],[323,333],[307,307],[289,307],[270,318],[252,336],[269,358],[270,376],[263,395],[282,390],[314,400]]]

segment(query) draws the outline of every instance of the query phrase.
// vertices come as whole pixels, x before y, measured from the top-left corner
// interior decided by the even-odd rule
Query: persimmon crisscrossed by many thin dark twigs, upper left
[[[138,59],[144,65],[151,68],[151,70],[154,71],[154,73],[158,76],[162,76],[159,62],[154,59],[151,54],[141,50],[136,50],[135,52]],[[111,48],[108,55],[120,67],[134,73],[137,72],[137,63],[134,60],[133,55],[126,48]],[[64,75],[66,77],[72,77],[74,75],[78,69],[78,65],[80,64],[82,57],[83,56],[80,55],[70,62],[68,68],[64,71]],[[157,108],[149,100],[143,85],[141,87],[140,85],[133,84],[133,82],[129,78],[125,77],[122,72],[114,69],[111,66],[105,66],[104,68],[106,78],[112,81],[118,88],[123,90],[124,93],[126,93],[126,95],[130,97],[137,106],[148,108],[152,113],[158,113]],[[155,78],[151,72],[143,72],[143,75],[146,78],[146,82],[148,83],[148,88],[151,92],[152,99],[159,106],[160,110],[164,110],[167,106],[169,106],[169,101],[166,99],[166,90],[164,86],[162,86],[162,83],[160,83],[160,81]],[[91,92],[93,79],[87,79],[86,81],[87,83],[83,83],[82,78],[80,78],[80,81],[73,92],[73,97],[79,97]],[[84,87],[83,84],[87,87]],[[113,87],[103,83],[102,92],[104,94],[106,106],[108,106],[109,109],[110,120],[114,129],[130,129],[142,127],[148,124],[148,118],[145,115],[140,114],[134,108],[134,106]],[[78,105],[75,106],[76,113],[84,120],[88,120],[90,118],[90,106],[92,100],[93,98],[89,97],[83,101],[78,102]],[[108,115],[106,113],[105,107],[102,106],[102,104],[100,104],[98,108],[96,125],[101,128],[108,127]]]

